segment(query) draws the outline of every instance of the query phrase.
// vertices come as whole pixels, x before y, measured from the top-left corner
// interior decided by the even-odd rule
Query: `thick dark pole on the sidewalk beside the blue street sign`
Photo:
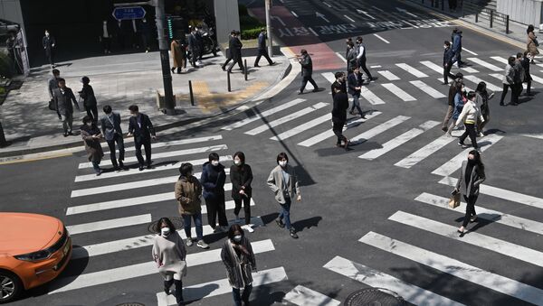
[[[157,0],[155,14],[157,19],[158,49],[160,50],[160,63],[162,65],[162,80],[164,81],[164,103],[166,105],[166,114],[176,114],[176,101],[174,101],[174,89],[172,88],[172,75],[169,66],[169,46],[167,45],[166,14],[164,12],[165,0]]]

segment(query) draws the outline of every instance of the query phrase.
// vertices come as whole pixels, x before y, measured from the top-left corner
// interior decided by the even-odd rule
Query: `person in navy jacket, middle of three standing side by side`
[[[226,181],[226,173],[224,172],[224,166],[219,162],[219,154],[209,153],[209,162],[205,162],[202,167],[200,182],[204,187],[207,222],[214,229],[214,233],[228,229],[224,204],[224,181]],[[218,227],[216,223],[217,215],[219,218]]]

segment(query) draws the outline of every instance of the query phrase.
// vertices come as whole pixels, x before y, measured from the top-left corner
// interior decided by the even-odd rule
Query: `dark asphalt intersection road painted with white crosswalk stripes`
[[[342,54],[345,37],[364,35],[368,67],[380,66],[370,68],[379,79],[367,90],[375,96],[374,103],[384,104],[362,99],[368,119],[350,118],[346,131],[348,138],[359,139],[357,144],[345,151],[334,146],[333,136],[318,136],[331,132],[327,78],[335,71],[319,70],[314,78],[326,88],[319,93],[296,95],[296,80],[271,101],[243,114],[185,133],[159,135],[152,171],[106,172],[95,178],[83,153],[2,165],[2,210],[61,218],[71,226],[74,245],[85,246],[76,247],[78,258],[71,260],[61,278],[14,305],[157,304],[162,282],[149,264],[148,220],[176,217],[176,202],[167,196],[178,174],[176,162],[205,159],[210,150],[224,156],[227,168],[228,156],[243,151],[254,172],[252,215],[260,217],[255,221],[262,227],[246,235],[258,245],[260,273],[255,274],[259,280],[255,282],[263,283],[253,289],[255,305],[309,305],[309,295],[296,300],[300,296],[291,291],[297,286],[313,291],[314,298],[341,302],[351,292],[381,287],[414,304],[541,303],[543,191],[539,186],[543,179],[538,173],[543,164],[538,157],[543,139],[525,134],[542,133],[538,114],[543,110],[539,103],[543,84],[534,83],[536,96],[523,98],[525,103],[518,107],[499,107],[500,92],[491,100],[490,134],[479,139],[487,173],[476,207],[480,219],[469,226],[471,233],[460,238],[455,230],[462,222],[462,209],[446,208],[452,187],[443,181],[457,177],[467,154],[456,138],[443,137],[437,123],[443,121],[446,98],[438,96],[446,95],[448,87],[440,85],[441,73],[421,63],[441,64],[443,40],[450,38],[452,23],[373,31],[368,23],[392,26],[385,22],[405,20],[402,14],[414,14],[418,20],[435,16],[405,5],[398,7],[406,13],[399,11],[395,2],[281,2],[313,30],[326,26],[325,18],[332,25],[349,23],[345,15],[365,25],[357,32],[319,36],[331,51]],[[366,14],[354,14],[357,9]],[[477,54],[464,51],[464,58],[485,62],[467,59],[472,70],[463,70],[464,75],[500,86],[491,74],[501,71],[486,63],[501,69],[504,65],[492,57],[506,58],[518,50],[468,29],[463,29],[463,38],[463,46]],[[426,77],[406,71],[404,64]],[[532,67],[532,74],[543,78],[538,66]],[[389,73],[378,72],[386,70]],[[423,85],[433,90],[422,90]],[[466,85],[476,86],[470,80]],[[199,137],[214,139],[165,144]],[[188,149],[195,151],[181,151]],[[289,154],[302,181],[303,200],[292,206],[291,217],[298,240],[275,225],[279,208],[265,184],[280,152]],[[196,166],[195,172],[200,170]],[[108,186],[114,187],[107,190]],[[152,197],[140,198],[144,196]],[[233,219],[232,209],[227,215]],[[104,224],[94,223],[104,220],[114,220],[114,225],[100,229]],[[84,224],[90,226],[81,227]],[[186,296],[202,298],[195,305],[229,304],[229,287],[218,282],[225,277],[224,267],[213,253],[222,246],[224,235],[206,236],[206,240],[210,250],[188,248],[205,264],[188,261]],[[327,302],[319,305],[334,304]]]

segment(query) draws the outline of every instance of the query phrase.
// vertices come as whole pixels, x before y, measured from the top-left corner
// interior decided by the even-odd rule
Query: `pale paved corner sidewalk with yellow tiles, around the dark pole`
[[[254,57],[243,58],[249,66],[248,80],[237,66],[231,74],[232,92],[227,90],[226,72],[220,65],[222,55],[206,56],[205,66],[182,74],[173,74],[176,95],[176,116],[164,115],[157,109],[157,90],[163,93],[162,73],[158,52],[100,56],[71,60],[59,64],[61,77],[78,97],[82,76],[90,78],[90,85],[101,107],[109,104],[123,117],[123,132],[128,132],[128,107],[137,104],[140,112],[148,114],[157,130],[186,125],[204,118],[217,116],[258,98],[262,92],[277,84],[288,73],[290,60],[281,54],[268,66],[261,60],[260,68],[253,68]],[[189,65],[190,66],[190,65]],[[0,148],[0,157],[27,153],[39,153],[62,148],[81,146],[79,135],[64,137],[62,123],[54,111],[49,110],[47,80],[51,78],[49,67],[33,69],[30,77],[18,90],[10,91],[0,106],[0,121],[4,126],[9,146]],[[195,106],[190,104],[188,80],[192,80]],[[81,119],[86,116],[74,112],[74,132],[79,130]]]

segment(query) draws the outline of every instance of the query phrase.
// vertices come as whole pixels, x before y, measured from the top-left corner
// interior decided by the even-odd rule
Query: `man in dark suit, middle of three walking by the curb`
[[[115,170],[122,170],[124,169],[124,141],[122,139],[122,129],[120,128],[120,115],[113,112],[110,106],[103,107],[103,110],[106,115],[100,118],[101,130],[110,147],[111,164],[113,164]],[[116,143],[119,149],[119,163],[117,163],[115,155]]]

